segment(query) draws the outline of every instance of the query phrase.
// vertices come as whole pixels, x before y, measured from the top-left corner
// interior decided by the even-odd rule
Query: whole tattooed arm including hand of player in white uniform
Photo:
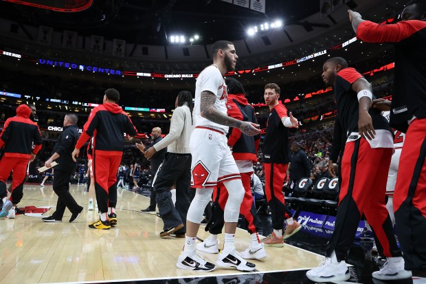
[[[218,111],[216,107],[214,107],[215,101],[216,101],[216,95],[213,94],[212,92],[210,91],[201,92],[200,112],[203,118],[207,118],[208,120],[212,122],[215,122],[217,124],[222,124],[227,127],[237,127],[246,135],[253,136],[260,133],[260,129],[257,128],[259,127],[258,124],[236,120],[235,118],[225,116],[223,113]]]

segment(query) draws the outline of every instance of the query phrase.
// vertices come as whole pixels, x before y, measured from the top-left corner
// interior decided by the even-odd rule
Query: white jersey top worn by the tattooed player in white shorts
[[[223,113],[225,116],[227,116],[227,89],[225,85],[225,80],[223,80],[223,76],[216,66],[210,65],[199,74],[197,78],[197,83],[195,84],[195,104],[194,111],[192,114],[194,118],[195,127],[214,127],[223,129],[223,131],[227,133],[229,127],[226,127],[222,124],[217,124],[201,116],[200,105],[202,91],[211,91],[213,94],[216,94],[216,101],[214,102],[214,107],[218,111]]]

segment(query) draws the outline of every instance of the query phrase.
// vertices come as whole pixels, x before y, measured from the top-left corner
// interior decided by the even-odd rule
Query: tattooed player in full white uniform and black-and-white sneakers
[[[225,205],[225,241],[223,251],[218,254],[216,265],[235,267],[242,271],[253,271],[256,265],[241,258],[235,249],[235,231],[241,201],[245,190],[231,150],[227,146],[226,133],[229,127],[237,127],[247,135],[260,133],[258,124],[227,116],[227,87],[223,75],[234,71],[238,56],[234,44],[216,41],[212,45],[213,64],[206,67],[197,78],[194,126],[190,138],[192,155],[191,184],[196,188],[186,217],[186,239],[183,252],[176,266],[195,272],[209,272],[215,265],[198,256],[195,241],[205,206],[212,197],[214,186],[225,184],[229,197]]]

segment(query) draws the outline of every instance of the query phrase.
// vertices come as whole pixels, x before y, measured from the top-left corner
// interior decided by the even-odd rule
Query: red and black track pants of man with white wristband
[[[379,254],[402,255],[385,204],[391,158],[392,148],[372,149],[363,138],[346,143],[341,160],[335,231],[326,248],[326,256],[335,250],[338,261],[346,259],[362,214],[366,215],[374,232]]]

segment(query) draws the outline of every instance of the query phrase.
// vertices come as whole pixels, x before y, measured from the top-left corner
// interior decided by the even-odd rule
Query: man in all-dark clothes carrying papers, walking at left
[[[58,203],[56,211],[50,217],[43,218],[45,222],[62,222],[62,217],[65,212],[65,207],[71,211],[71,219],[69,222],[76,221],[82,212],[82,206],[79,206],[69,193],[69,182],[71,174],[76,171],[76,162],[72,159],[71,153],[76,146],[77,140],[80,137],[77,127],[77,116],[75,114],[67,114],[64,118],[63,133],[60,134],[58,141],[54,146],[52,157],[45,162],[45,166],[51,167],[52,162],[56,160],[58,165],[55,167],[55,179],[53,189],[58,195]]]

